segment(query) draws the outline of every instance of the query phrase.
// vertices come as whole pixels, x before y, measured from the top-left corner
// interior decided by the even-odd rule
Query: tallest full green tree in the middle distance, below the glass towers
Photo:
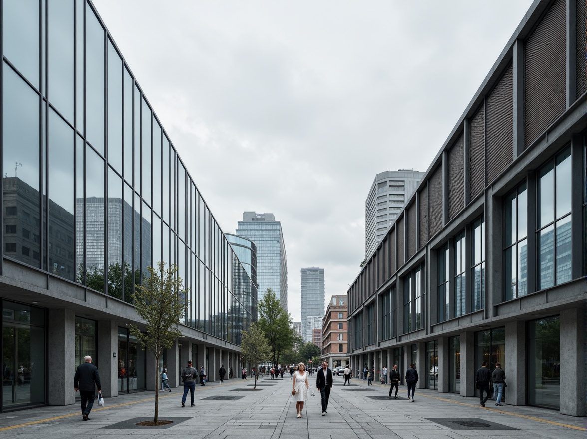
[[[257,308],[259,329],[264,333],[271,349],[271,362],[277,367],[281,353],[291,349],[296,340],[292,318],[281,308],[271,288],[267,289]]]

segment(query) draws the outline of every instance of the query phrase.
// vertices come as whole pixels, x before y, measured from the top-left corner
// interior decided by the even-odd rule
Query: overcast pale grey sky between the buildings
[[[426,171],[530,0],[93,0],[225,233],[281,221],[326,301],[365,258],[375,174]]]

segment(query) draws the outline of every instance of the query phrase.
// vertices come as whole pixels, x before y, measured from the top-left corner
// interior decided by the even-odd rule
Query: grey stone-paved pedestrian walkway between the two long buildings
[[[195,407],[181,407],[183,387],[161,391],[159,419],[173,420],[167,426],[138,427],[153,418],[154,391],[141,391],[107,398],[106,406],[94,404],[91,420],[83,421],[79,403],[0,414],[0,437],[19,439],[85,439],[139,434],[157,438],[254,438],[321,439],[347,438],[560,438],[585,439],[587,418],[558,414],[536,407],[501,407],[453,393],[416,389],[415,401],[406,398],[400,386],[399,400],[387,399],[389,386],[353,379],[343,386],[334,377],[328,414],[322,416],[321,398],[309,397],[303,418],[296,417],[291,397],[291,379],[232,379],[206,386],[196,385]],[[310,377],[315,386],[316,375]]]

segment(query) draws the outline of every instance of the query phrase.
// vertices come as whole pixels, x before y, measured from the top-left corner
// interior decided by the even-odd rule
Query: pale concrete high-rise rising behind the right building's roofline
[[[375,175],[365,201],[366,258],[377,248],[423,175],[423,172],[411,169],[384,171]]]

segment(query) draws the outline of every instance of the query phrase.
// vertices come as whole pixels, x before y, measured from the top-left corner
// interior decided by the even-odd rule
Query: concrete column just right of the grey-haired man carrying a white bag
[[[114,356],[116,354],[116,356]],[[102,395],[118,396],[118,325],[112,320],[98,322],[98,364]]]

